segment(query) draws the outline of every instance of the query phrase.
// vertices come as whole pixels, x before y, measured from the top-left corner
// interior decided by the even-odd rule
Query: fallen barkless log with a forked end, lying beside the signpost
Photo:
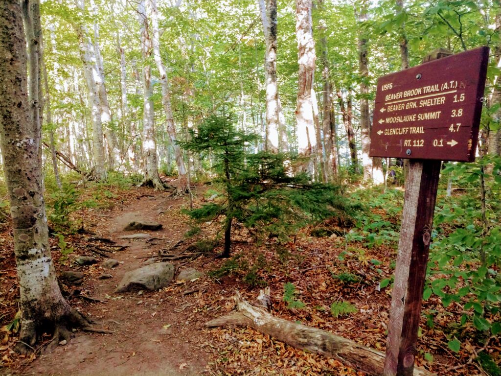
[[[381,375],[384,353],[358,344],[351,339],[334,335],[328,331],[291,322],[273,316],[265,308],[249,304],[238,293],[235,294],[236,311],[205,323],[206,327],[249,326],[269,334],[291,346],[335,358],[350,367]],[[433,376],[423,368],[414,368],[414,376]]]

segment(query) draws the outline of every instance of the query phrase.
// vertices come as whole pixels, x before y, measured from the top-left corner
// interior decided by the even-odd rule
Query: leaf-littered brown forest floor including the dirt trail
[[[195,192],[194,205],[210,200],[204,187]],[[76,211],[71,222],[88,232],[53,237],[53,258],[58,274],[81,271],[83,283],[61,286],[70,304],[98,321],[111,334],[78,331],[67,344],[39,344],[32,355],[20,356],[12,348],[18,339],[12,331],[2,332],[0,374],[12,375],[363,375],[339,361],[307,353],[276,341],[249,328],[207,329],[205,322],[228,313],[234,306],[232,296],[238,290],[248,300],[257,297],[260,288],[271,288],[273,313],[286,319],[329,330],[364,345],[383,350],[391,300],[390,288],[379,282],[391,277],[389,265],[395,250],[381,246],[367,249],[348,244],[334,232],[326,237],[310,236],[311,229],[297,234],[287,244],[275,239],[256,242],[243,229],[236,229],[230,260],[214,259],[218,246],[207,252],[204,245],[214,234],[207,224],[198,237],[187,238],[190,229],[182,209],[189,198],[171,197],[166,192],[147,188],[107,190],[105,204]],[[90,190],[84,191],[80,199]],[[131,220],[157,221],[159,231],[123,231]],[[337,225],[332,225],[336,227]],[[338,233],[345,229],[339,229]],[[19,297],[12,237],[8,224],[0,226],[2,291],[0,324],[12,322]],[[80,231],[82,232],[82,231]],[[147,239],[123,239],[121,236],[148,233]],[[109,239],[107,244],[96,238]],[[67,255],[63,252],[73,251]],[[96,256],[93,250],[109,254],[119,265],[104,269],[101,262],[80,267],[77,256]],[[179,269],[190,267],[203,273],[191,281],[176,281],[156,292],[116,293],[122,276],[137,269],[160,252],[187,256],[172,263]],[[66,253],[66,252],[64,252]],[[100,261],[106,258],[98,256]],[[209,272],[214,272],[209,274]],[[102,274],[110,279],[99,279]],[[284,288],[289,286],[288,300]],[[293,291],[290,290],[291,284]],[[296,302],[297,304],[295,304]],[[333,302],[349,302],[353,312],[331,312]],[[291,304],[292,303],[292,304]],[[436,303],[436,302],[435,302]],[[433,298],[424,309],[436,308]],[[452,354],[441,331],[450,317],[436,313],[434,328],[424,322],[418,340],[416,364],[437,374],[484,374],[468,354]],[[445,342],[446,343],[446,342]],[[468,341],[464,345],[468,346]],[[499,350],[499,349],[497,349]],[[428,361],[426,354],[433,354]],[[461,366],[461,364],[465,364]],[[458,366],[459,365],[459,366]]]

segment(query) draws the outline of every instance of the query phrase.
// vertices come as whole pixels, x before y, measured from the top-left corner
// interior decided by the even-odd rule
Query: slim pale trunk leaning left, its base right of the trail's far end
[[[177,165],[177,192],[180,194],[185,194],[189,190],[189,175],[186,171],[184,165],[184,158],[181,148],[176,142],[176,126],[174,124],[174,117],[172,115],[172,107],[170,104],[170,89],[169,81],[167,78],[167,71],[162,62],[162,56],[160,55],[160,32],[158,31],[158,16],[156,0],[148,0],[148,7],[150,8],[151,14],[151,27],[153,29],[153,57],[155,58],[155,63],[160,74],[160,85],[162,87],[162,104],[165,111],[165,121],[167,123],[167,133],[169,134],[172,148],[174,149],[174,156],[176,157]]]

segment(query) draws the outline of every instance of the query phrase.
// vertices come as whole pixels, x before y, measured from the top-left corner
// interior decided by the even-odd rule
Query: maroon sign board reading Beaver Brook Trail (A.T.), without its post
[[[472,162],[489,49],[380,77],[370,156]]]

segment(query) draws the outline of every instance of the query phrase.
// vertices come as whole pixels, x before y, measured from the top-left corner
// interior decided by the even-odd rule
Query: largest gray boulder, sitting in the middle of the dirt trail
[[[166,287],[173,278],[174,265],[166,262],[151,264],[125,273],[115,291],[155,291]]]

